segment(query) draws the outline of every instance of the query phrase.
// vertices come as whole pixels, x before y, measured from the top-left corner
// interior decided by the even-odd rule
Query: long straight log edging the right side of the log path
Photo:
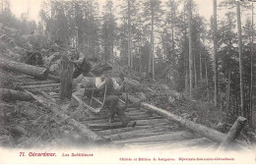
[[[133,96],[129,96],[129,99],[132,102],[136,102],[136,101],[139,100],[139,99],[137,99]],[[208,139],[212,139],[212,140],[217,141],[217,142],[222,142],[225,138],[225,135],[223,133],[220,133],[216,130],[210,129],[210,128],[205,127],[203,125],[196,124],[196,123],[194,123],[190,120],[184,119],[180,116],[177,116],[175,114],[170,113],[169,111],[160,109],[160,108],[158,108],[154,105],[148,104],[146,102],[141,102],[140,106],[145,108],[145,109],[151,110],[151,111],[159,114],[160,116],[166,118],[167,120],[173,121],[173,122],[185,127],[189,131],[194,132],[194,133],[199,134],[199,135],[202,135],[203,137],[206,137]],[[238,141],[238,142],[241,143],[241,141]]]

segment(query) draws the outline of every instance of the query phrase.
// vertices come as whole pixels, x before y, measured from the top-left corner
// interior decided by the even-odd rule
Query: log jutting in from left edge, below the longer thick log
[[[14,89],[0,88],[0,98],[4,101],[21,100],[21,101],[32,101],[31,94],[18,91]]]

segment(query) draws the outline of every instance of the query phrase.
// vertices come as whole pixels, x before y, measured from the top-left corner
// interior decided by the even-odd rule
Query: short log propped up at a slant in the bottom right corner
[[[227,149],[231,145],[232,141],[238,137],[245,123],[246,118],[238,117],[235,123],[232,125],[231,129],[229,130],[228,134],[224,138],[218,150]]]

